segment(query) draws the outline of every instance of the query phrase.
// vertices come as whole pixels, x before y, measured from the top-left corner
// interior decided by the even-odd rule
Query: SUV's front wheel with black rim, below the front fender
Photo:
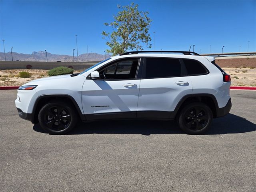
[[[38,120],[40,126],[50,134],[65,134],[74,128],[77,116],[72,105],[52,101],[39,111]]]

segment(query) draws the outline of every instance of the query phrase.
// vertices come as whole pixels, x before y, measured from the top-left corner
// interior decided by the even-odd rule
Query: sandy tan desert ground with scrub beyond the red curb
[[[256,68],[222,68],[230,74],[232,86],[256,86]],[[19,72],[26,71],[32,74],[30,78],[20,78]],[[48,70],[0,70],[0,86],[21,86],[31,80],[47,77]],[[74,71],[78,73],[81,71]]]

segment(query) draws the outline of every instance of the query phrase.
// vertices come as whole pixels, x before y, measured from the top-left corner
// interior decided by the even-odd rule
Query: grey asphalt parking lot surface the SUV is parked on
[[[230,114],[204,135],[156,120],[49,135],[19,118],[16,90],[1,90],[0,191],[256,191],[256,92],[231,97]]]

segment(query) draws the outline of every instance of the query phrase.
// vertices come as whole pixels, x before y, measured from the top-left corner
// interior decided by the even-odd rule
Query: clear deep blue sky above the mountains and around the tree
[[[104,54],[106,40],[102,31],[112,22],[119,9],[117,4],[139,4],[153,20],[150,34],[155,31],[155,50],[188,50],[195,52],[256,51],[256,1],[71,1],[71,0],[8,0],[0,1],[0,36],[5,50],[31,54],[47,50],[52,54],[72,55],[97,52]],[[145,48],[148,50],[148,48]]]

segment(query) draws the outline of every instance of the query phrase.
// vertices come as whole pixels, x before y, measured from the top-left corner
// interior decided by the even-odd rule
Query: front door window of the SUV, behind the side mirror
[[[99,70],[100,78],[107,80],[134,79],[139,59],[120,60]]]

